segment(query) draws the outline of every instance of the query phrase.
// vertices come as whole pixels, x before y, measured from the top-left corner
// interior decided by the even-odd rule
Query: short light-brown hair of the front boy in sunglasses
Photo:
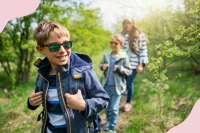
[[[49,39],[51,32],[56,33],[60,37],[70,38],[69,31],[57,22],[45,19],[34,30],[34,39],[37,41],[37,45],[42,46]]]

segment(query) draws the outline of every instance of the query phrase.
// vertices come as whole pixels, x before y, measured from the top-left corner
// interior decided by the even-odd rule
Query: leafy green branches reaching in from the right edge
[[[200,21],[199,21],[199,6],[200,2],[197,2],[196,9],[191,14],[198,18],[195,24],[190,26],[180,26],[178,29],[179,34],[174,37],[174,40],[168,40],[164,44],[156,45],[157,57],[152,58],[152,63],[149,64],[149,69],[154,72],[156,77],[159,76],[160,71],[163,69],[162,62],[163,57],[172,60],[172,63],[177,62],[183,58],[191,58],[195,62],[195,67],[200,69]],[[170,64],[172,64],[170,63]],[[168,65],[170,65],[168,64]],[[167,65],[167,66],[168,66]],[[164,66],[164,67],[167,67]]]

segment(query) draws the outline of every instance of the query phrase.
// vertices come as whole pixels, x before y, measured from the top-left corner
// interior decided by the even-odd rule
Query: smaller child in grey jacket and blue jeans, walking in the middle
[[[115,132],[121,93],[126,89],[125,76],[132,73],[126,51],[121,49],[124,40],[121,34],[115,34],[110,41],[111,51],[104,55],[100,63],[100,69],[104,71],[102,86],[110,97],[106,111],[108,124],[104,126],[108,133]]]

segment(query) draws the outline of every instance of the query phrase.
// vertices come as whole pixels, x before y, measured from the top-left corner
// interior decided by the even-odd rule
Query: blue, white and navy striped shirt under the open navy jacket
[[[48,75],[49,88],[47,94],[48,122],[47,133],[66,133],[66,121],[60,107],[56,88],[56,75]]]

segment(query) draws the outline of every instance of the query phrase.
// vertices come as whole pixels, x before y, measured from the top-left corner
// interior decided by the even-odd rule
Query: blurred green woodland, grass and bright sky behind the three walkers
[[[26,106],[37,76],[33,63],[43,58],[33,40],[39,22],[65,26],[72,51],[90,55],[100,78],[99,62],[125,18],[135,19],[150,41],[150,63],[136,78],[133,110],[120,112],[117,132],[165,133],[184,121],[200,94],[199,0],[41,0],[34,13],[9,21],[0,33],[0,132],[40,132],[42,108]]]

